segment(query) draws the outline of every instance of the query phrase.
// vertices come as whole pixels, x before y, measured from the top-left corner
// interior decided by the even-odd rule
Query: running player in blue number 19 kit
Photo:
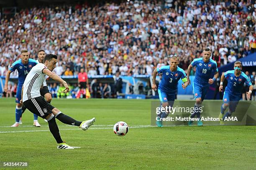
[[[195,96],[195,107],[194,114],[191,115],[191,118],[194,118],[195,115],[199,118],[197,121],[198,126],[202,126],[203,123],[200,120],[200,112],[199,107],[201,107],[202,101],[205,99],[205,95],[209,89],[209,85],[211,85],[219,76],[217,63],[210,59],[211,51],[210,48],[206,47],[202,53],[203,57],[194,59],[189,67],[187,68],[187,80],[190,85],[189,74],[192,67],[196,67],[195,80],[193,82],[193,90]],[[212,74],[212,70],[214,71],[214,77],[210,78]],[[192,125],[193,121],[189,121],[188,125]]]

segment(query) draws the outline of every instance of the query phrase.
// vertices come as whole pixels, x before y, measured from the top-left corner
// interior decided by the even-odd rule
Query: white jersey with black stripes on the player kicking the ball
[[[45,68],[47,67],[43,63],[39,63],[28,73],[23,84],[23,102],[41,96],[40,88],[45,80],[45,74],[42,71]]]

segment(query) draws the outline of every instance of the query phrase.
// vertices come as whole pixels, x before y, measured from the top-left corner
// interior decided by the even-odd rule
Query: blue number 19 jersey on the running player
[[[214,72],[218,72],[217,63],[210,59],[209,62],[204,62],[202,57],[196,58],[191,62],[193,67],[196,66],[196,74],[194,84],[202,85],[202,86],[209,86],[209,79],[212,74],[212,70]]]

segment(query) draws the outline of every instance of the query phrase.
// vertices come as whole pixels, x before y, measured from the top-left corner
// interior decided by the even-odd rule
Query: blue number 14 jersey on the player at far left
[[[22,86],[27,75],[28,72],[30,72],[31,68],[34,67],[36,64],[38,64],[38,62],[36,60],[33,59],[28,59],[28,64],[23,64],[21,62],[21,60],[17,60],[15,62],[13,62],[12,66],[10,67],[10,71],[13,72],[16,69],[18,70],[18,85]]]

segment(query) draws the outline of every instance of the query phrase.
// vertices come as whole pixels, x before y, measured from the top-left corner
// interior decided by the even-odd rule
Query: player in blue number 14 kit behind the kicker
[[[21,89],[22,85],[28,75],[28,72],[31,70],[33,66],[37,64],[36,60],[29,59],[29,54],[27,50],[21,51],[21,59],[13,62],[10,70],[6,72],[5,76],[5,87],[4,90],[7,92],[8,90],[8,81],[10,79],[10,73],[18,70],[18,85],[17,85],[17,92],[16,92],[16,110],[15,110],[15,123],[11,127],[18,127],[20,122],[20,115],[22,112],[22,105],[20,104],[21,99]],[[34,122],[33,125],[36,127],[40,127],[41,125],[38,123],[37,120],[38,116],[34,114]]]

